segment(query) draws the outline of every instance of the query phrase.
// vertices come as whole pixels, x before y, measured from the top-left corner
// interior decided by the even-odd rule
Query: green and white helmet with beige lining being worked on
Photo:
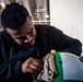
[[[83,82],[83,59],[70,52],[52,51],[44,60],[36,82]]]

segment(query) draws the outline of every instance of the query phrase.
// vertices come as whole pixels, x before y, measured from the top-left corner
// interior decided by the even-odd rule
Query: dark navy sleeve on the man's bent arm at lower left
[[[13,55],[7,62],[0,62],[0,81],[24,79],[25,73],[22,72],[21,65],[25,59],[35,57],[35,55],[33,56],[33,52],[37,52],[37,50],[34,48],[29,48]]]

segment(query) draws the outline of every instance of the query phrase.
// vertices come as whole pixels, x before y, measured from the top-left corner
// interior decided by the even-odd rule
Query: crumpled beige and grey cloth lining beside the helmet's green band
[[[44,60],[44,69],[38,74],[37,80],[44,82],[55,82],[56,77],[58,75],[55,56],[49,52]]]

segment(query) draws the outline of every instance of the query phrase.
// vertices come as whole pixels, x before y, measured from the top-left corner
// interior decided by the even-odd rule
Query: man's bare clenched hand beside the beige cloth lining
[[[26,73],[26,72],[36,73],[36,72],[39,72],[42,70],[42,68],[43,68],[43,63],[35,58],[28,58],[22,65],[22,71],[24,73]]]

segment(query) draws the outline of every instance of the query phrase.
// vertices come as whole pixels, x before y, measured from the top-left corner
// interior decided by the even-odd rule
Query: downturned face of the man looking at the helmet
[[[21,46],[33,46],[35,44],[36,31],[31,17],[19,30],[7,28],[11,37]]]

